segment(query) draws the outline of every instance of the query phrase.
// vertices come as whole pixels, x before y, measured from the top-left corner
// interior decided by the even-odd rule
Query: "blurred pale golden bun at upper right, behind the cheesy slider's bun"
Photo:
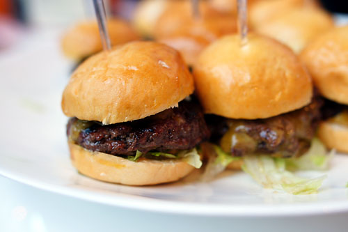
[[[299,53],[313,39],[333,26],[333,18],[324,10],[299,8],[261,25],[256,31],[285,43],[295,53]]]

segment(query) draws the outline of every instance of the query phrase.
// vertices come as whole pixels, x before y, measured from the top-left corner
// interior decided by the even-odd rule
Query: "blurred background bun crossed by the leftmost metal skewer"
[[[129,24],[118,18],[108,20],[111,45],[120,45],[137,40],[139,37]],[[102,50],[102,40],[97,22],[80,22],[65,33],[61,40],[61,47],[65,56],[80,60]]]

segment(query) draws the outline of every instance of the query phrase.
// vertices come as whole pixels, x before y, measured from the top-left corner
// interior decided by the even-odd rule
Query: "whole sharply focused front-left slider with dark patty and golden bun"
[[[209,137],[203,111],[187,100],[193,77],[182,57],[157,42],[100,52],[74,71],[63,92],[68,144],[80,173],[124,185],[187,176]]]

